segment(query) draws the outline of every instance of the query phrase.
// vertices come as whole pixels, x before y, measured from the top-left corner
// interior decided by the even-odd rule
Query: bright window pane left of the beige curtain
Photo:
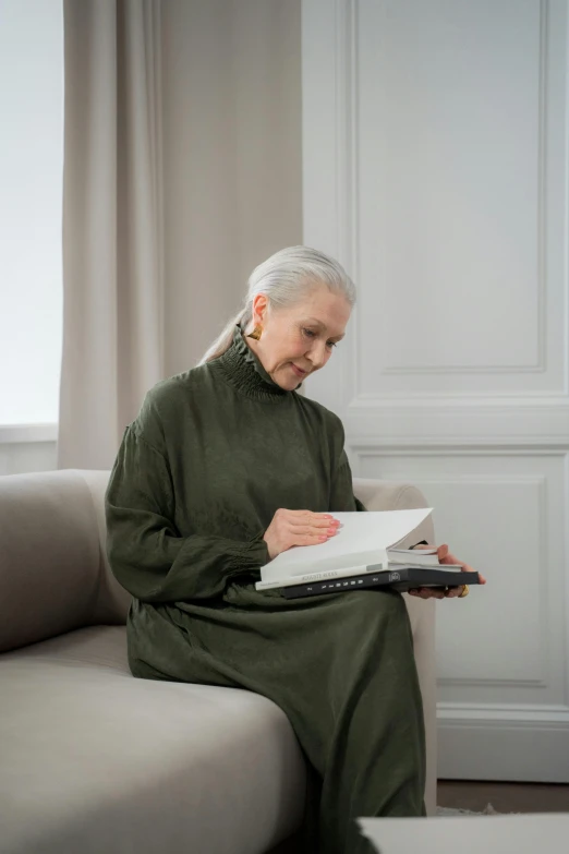
[[[0,0],[0,425],[58,420],[63,10]]]

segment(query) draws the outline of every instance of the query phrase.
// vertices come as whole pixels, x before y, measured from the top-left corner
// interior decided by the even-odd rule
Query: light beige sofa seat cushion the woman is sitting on
[[[125,628],[0,655],[3,854],[265,852],[299,826],[305,766],[251,691],[134,678]]]

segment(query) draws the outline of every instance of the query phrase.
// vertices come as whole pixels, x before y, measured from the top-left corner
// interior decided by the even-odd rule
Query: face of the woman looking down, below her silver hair
[[[258,293],[246,333],[258,323],[263,334],[258,341],[246,341],[271,380],[292,392],[306,376],[324,368],[335,345],[343,338],[350,304],[326,286],[316,285],[290,309],[273,309],[269,313],[267,305],[265,294]]]

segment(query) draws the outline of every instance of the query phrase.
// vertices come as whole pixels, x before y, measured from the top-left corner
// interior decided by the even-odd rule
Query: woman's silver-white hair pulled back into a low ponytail
[[[355,304],[353,281],[342,265],[329,255],[310,246],[288,246],[276,252],[255,267],[249,277],[245,304],[228,321],[197,364],[217,359],[231,347],[235,325],[241,324],[245,328],[251,323],[253,300],[257,293],[266,296],[269,310],[280,309],[299,302],[318,284],[340,293],[350,306]]]

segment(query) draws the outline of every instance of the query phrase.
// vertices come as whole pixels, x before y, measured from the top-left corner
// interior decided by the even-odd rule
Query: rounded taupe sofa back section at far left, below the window
[[[101,484],[108,472],[99,474]],[[97,493],[98,500],[102,496]],[[109,594],[97,510],[73,469],[0,478],[0,651],[85,625],[124,622],[129,596]]]

